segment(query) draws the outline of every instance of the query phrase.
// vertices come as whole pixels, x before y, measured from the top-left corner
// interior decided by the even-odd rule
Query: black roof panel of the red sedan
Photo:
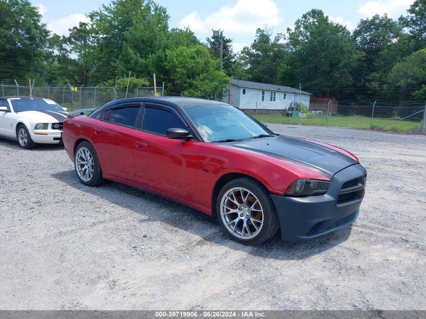
[[[181,96],[161,96],[161,97],[131,97],[125,99],[119,99],[107,103],[112,105],[115,103],[126,103],[126,102],[153,102],[163,103],[175,107],[183,106],[199,106],[199,105],[228,105],[216,100],[199,99],[194,97],[181,97]]]

